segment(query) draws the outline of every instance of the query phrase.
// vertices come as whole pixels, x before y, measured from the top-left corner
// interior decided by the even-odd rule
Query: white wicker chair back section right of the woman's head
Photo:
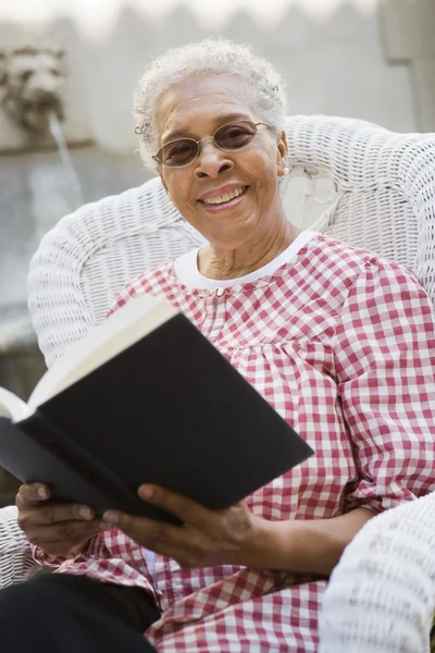
[[[435,301],[435,135],[330,116],[296,116],[286,131],[290,163],[336,185],[316,229],[407,266]]]

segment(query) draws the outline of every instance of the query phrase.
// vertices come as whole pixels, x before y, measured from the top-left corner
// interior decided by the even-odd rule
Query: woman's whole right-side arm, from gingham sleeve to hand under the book
[[[185,568],[234,564],[328,575],[373,514],[435,490],[435,328],[421,284],[394,263],[369,261],[349,288],[332,346],[359,476],[345,515],[272,522],[244,502],[207,510],[161,488],[147,495],[142,486],[139,496],[184,526],[114,512],[104,519]]]

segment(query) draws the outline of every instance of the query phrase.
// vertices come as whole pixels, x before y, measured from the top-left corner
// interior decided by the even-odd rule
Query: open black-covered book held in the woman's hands
[[[53,497],[174,518],[137,488],[224,508],[312,454],[166,300],[128,301],[46,372],[27,404],[0,389],[0,466]]]

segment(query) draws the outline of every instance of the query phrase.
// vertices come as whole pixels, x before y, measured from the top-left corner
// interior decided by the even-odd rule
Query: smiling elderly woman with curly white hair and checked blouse
[[[428,299],[398,266],[289,224],[283,87],[224,40],[150,65],[141,156],[208,244],[134,280],[114,309],[166,297],[315,456],[226,510],[139,489],[183,526],[101,521],[24,485],[20,523],[60,574],[0,595],[3,651],[313,652],[345,546],[372,515],[435,489]]]

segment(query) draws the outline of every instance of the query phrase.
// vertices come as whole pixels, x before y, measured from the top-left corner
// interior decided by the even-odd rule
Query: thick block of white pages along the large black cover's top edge
[[[73,345],[44,374],[28,399],[29,408],[34,411],[37,406],[86,377],[177,312],[160,297],[142,295],[130,299],[83,341]]]

